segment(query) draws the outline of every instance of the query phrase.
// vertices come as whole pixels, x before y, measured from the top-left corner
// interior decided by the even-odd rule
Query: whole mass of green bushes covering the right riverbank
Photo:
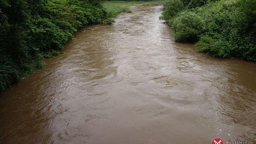
[[[162,17],[175,41],[201,52],[256,61],[256,0],[167,0]]]

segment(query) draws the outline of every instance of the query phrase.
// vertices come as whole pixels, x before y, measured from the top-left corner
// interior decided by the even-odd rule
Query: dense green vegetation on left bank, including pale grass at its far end
[[[102,4],[103,5],[102,5]],[[111,24],[129,6],[160,1],[0,0],[0,92],[39,68],[78,28]]]

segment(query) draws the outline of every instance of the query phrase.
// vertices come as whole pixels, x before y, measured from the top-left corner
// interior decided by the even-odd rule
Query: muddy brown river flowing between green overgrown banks
[[[0,144],[256,144],[256,63],[174,42],[161,6],[82,29],[0,95]]]

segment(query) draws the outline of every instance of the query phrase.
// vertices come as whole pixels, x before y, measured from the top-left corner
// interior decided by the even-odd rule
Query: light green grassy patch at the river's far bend
[[[109,18],[116,18],[121,12],[132,12],[131,7],[144,7],[161,5],[163,0],[151,1],[103,1],[102,5],[107,11]]]

